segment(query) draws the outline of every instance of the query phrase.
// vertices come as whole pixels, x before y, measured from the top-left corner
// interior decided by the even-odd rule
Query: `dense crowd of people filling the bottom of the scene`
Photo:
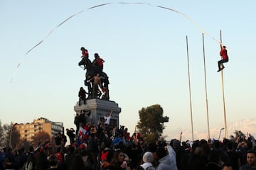
[[[90,115],[90,114],[89,114]],[[130,135],[124,126],[110,125],[111,113],[97,125],[85,123],[86,132],[67,129],[64,134],[34,148],[1,150],[2,169],[64,170],[211,170],[256,169],[255,139],[196,140],[146,143],[139,132]],[[86,118],[85,118],[86,119]],[[71,134],[71,135],[70,135]]]

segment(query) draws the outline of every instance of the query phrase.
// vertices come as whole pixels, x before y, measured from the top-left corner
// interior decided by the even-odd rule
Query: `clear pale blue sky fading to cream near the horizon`
[[[90,60],[95,52],[105,60],[110,100],[119,104],[119,124],[130,132],[139,110],[159,104],[169,117],[167,140],[180,132],[191,140],[191,117],[194,139],[207,138],[207,89],[209,126],[215,129],[210,137],[218,137],[224,126],[220,30],[230,58],[223,70],[227,123],[255,120],[256,1],[119,2],[126,1],[0,1],[2,124],[43,117],[75,128],[74,106],[85,79],[78,62],[85,47]]]

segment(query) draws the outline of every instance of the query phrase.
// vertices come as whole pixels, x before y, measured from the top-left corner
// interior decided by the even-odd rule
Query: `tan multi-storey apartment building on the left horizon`
[[[32,123],[16,124],[15,128],[20,133],[21,139],[27,140],[28,142],[31,142],[31,137],[41,131],[47,132],[50,137],[54,137],[58,132],[64,134],[63,123],[51,122],[46,118],[38,118],[33,120]]]

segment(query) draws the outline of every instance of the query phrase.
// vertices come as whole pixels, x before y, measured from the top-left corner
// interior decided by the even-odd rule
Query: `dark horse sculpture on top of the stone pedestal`
[[[88,88],[88,98],[100,98],[105,100],[110,100],[108,84],[110,84],[107,74],[102,72],[97,64],[92,63],[91,60],[87,57],[83,57],[82,60],[78,63],[78,66],[84,66],[86,69],[85,73],[85,86]],[[100,74],[101,77],[101,86],[98,88],[97,96],[92,96],[92,79],[97,74]]]

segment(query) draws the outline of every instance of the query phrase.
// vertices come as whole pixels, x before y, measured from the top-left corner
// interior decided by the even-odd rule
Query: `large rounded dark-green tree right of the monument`
[[[163,113],[163,108],[159,104],[142,108],[139,111],[137,128],[146,142],[159,140],[164,130],[164,123],[169,122],[169,117],[163,117]]]

